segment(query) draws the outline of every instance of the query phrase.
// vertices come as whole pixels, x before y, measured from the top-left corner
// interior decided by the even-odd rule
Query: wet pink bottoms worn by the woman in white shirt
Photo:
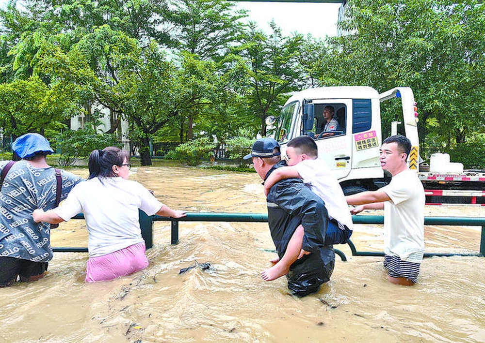
[[[145,242],[141,242],[110,254],[88,258],[84,281],[113,280],[145,269],[147,266]]]

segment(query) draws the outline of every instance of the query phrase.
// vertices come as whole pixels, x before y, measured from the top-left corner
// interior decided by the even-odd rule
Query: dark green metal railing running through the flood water
[[[80,213],[74,219],[84,219]],[[383,224],[383,216],[354,215],[354,224]],[[140,228],[146,248],[153,247],[153,222],[171,222],[171,244],[178,243],[178,223],[179,222],[247,222],[247,223],[266,223],[268,215],[266,213],[212,213],[212,212],[188,212],[185,217],[171,218],[161,216],[148,216],[140,211]],[[425,253],[424,257],[430,256],[485,256],[485,218],[477,217],[425,217],[425,225],[450,225],[450,226],[481,226],[482,233],[480,238],[480,251],[478,253],[458,254],[458,253]],[[347,243],[353,256],[384,256],[383,252],[357,251],[354,243],[349,240]],[[87,252],[87,248],[53,248],[54,252]],[[335,249],[335,253],[340,256],[342,261],[347,261],[343,252]]]

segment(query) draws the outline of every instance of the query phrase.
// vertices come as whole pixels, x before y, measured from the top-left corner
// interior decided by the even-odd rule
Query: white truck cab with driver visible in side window
[[[403,102],[403,109],[409,104],[412,108],[414,97],[408,88],[391,89],[381,95],[371,87],[322,87],[294,93],[281,111],[275,139],[284,155],[291,138],[300,135],[314,138],[318,158],[325,161],[346,194],[378,189],[388,182],[379,162],[380,102],[401,97],[401,92],[406,102]],[[325,130],[329,119],[323,111],[328,108],[333,109],[335,120]],[[407,121],[414,124],[411,131],[416,131],[411,142],[417,149],[414,115],[409,119]],[[408,128],[406,135],[407,131]]]

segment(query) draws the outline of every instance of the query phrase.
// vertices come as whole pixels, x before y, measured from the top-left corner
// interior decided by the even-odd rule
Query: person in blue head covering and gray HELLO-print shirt
[[[55,169],[47,164],[53,152],[40,134],[24,134],[12,144],[22,158],[8,171],[0,192],[0,287],[41,278],[52,259],[50,224],[35,223],[34,209],[52,209],[56,201]],[[10,161],[0,163],[0,171]],[[61,170],[61,200],[83,179]]]

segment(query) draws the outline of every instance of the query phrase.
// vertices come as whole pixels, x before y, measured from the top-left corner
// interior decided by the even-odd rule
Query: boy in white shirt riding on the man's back
[[[308,136],[291,139],[286,148],[288,157],[286,167],[276,169],[264,182],[264,194],[281,179],[298,178],[317,194],[325,203],[328,211],[328,226],[325,245],[346,243],[352,235],[352,216],[339,181],[332,175],[323,160],[317,159],[317,145]],[[261,277],[266,281],[275,280],[288,272],[291,264],[304,254],[302,250],[303,227],[299,226],[292,236],[284,256],[273,267],[263,270]]]

